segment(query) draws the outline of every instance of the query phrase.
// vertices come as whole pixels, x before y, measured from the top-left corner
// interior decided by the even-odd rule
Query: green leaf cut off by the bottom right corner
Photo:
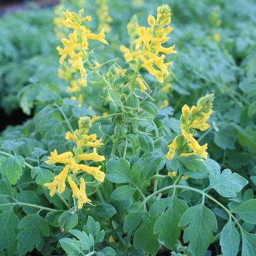
[[[242,256],[256,256],[256,234],[242,229]]]

